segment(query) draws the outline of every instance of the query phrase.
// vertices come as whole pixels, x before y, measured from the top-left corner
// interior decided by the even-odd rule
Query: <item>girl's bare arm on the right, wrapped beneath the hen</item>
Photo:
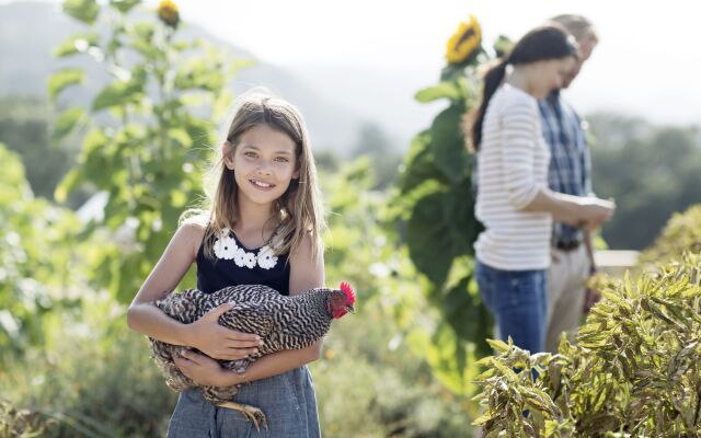
[[[318,261],[311,258],[311,237],[307,235],[301,247],[290,255],[290,295],[323,287],[323,255]],[[218,362],[194,351],[185,351],[184,358],[175,358],[175,365],[185,376],[199,384],[229,387],[281,374],[321,356],[322,341],[303,349],[290,349],[263,356],[246,369],[244,374],[226,370]]]

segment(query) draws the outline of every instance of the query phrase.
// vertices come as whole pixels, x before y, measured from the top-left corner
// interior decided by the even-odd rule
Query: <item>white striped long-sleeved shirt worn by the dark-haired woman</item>
[[[475,212],[485,230],[474,243],[476,257],[497,269],[545,269],[552,218],[522,210],[548,189],[550,149],[538,101],[505,83],[490,100],[482,127]]]

